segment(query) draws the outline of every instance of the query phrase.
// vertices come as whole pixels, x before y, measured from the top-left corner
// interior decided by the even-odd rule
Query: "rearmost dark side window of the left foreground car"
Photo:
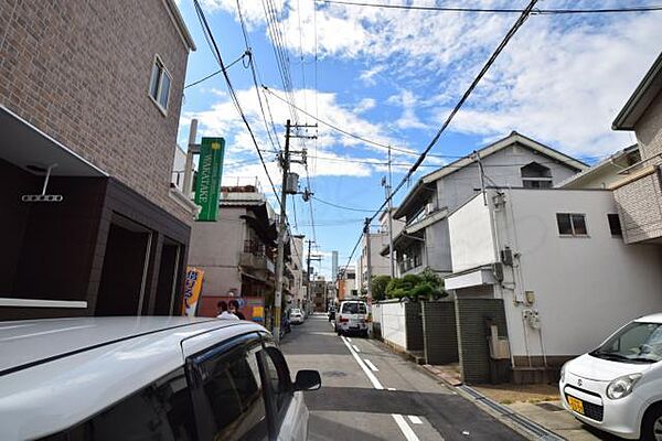
[[[96,417],[43,441],[196,440],[193,406],[180,368]]]

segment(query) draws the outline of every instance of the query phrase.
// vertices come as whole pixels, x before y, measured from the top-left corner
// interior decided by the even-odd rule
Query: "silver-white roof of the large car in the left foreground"
[[[82,422],[183,366],[182,342],[265,331],[247,321],[77,318],[0,323],[0,439]],[[66,404],[66,406],[63,406]]]

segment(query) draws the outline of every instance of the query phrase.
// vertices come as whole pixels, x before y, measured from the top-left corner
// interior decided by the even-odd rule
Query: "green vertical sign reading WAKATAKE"
[[[195,203],[202,207],[197,220],[215,222],[218,217],[218,192],[224,152],[223,138],[202,138],[195,181]]]

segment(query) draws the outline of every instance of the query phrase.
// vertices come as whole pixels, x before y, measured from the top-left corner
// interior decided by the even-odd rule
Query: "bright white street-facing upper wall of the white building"
[[[452,272],[494,261],[490,208],[483,197],[469,201],[448,219]]]

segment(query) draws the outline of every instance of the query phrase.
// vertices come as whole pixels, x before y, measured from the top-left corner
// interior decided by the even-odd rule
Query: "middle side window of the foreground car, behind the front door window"
[[[236,346],[199,363],[206,421],[205,433],[213,440],[264,440],[267,438],[265,401],[259,381],[257,345]]]

